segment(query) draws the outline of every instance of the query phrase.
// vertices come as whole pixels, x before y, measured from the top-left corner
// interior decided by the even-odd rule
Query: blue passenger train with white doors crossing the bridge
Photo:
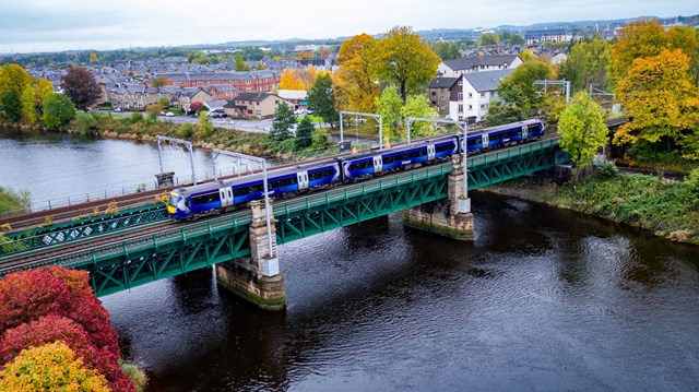
[[[454,154],[466,154],[524,143],[544,135],[544,122],[529,119],[483,128],[466,134],[441,135],[383,150],[333,156],[296,166],[268,170],[268,192],[275,199],[299,192],[352,183],[378,175],[447,161]],[[199,215],[233,211],[250,201],[264,198],[262,173],[182,187],[169,193],[167,212],[175,221]]]

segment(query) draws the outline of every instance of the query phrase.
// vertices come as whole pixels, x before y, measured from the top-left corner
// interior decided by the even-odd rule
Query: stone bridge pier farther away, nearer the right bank
[[[451,162],[454,169],[449,174],[447,199],[403,210],[403,224],[449,238],[473,240],[471,199],[463,192],[463,161],[461,155],[454,155]]]

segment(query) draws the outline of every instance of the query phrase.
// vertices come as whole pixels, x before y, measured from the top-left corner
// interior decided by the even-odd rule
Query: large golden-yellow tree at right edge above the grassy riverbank
[[[699,129],[699,91],[689,80],[689,58],[679,49],[633,60],[615,90],[631,121],[614,135],[615,144],[694,144]],[[685,151],[697,156],[696,151]]]

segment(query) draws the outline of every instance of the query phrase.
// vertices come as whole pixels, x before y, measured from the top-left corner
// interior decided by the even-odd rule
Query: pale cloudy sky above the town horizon
[[[696,0],[0,0],[0,54],[694,14]]]

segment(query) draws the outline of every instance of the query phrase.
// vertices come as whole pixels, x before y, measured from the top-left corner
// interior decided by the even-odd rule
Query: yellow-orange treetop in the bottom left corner
[[[109,392],[107,380],[86,369],[64,343],[23,351],[0,371],[0,391]]]

